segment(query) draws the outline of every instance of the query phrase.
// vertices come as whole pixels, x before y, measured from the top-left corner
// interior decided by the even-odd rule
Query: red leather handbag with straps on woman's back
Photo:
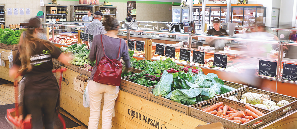
[[[102,44],[104,56],[101,58],[99,62],[96,61],[97,69],[93,80],[101,84],[120,86],[121,74],[122,74],[122,64],[120,62],[120,59],[117,58],[117,59],[111,60],[105,55],[102,35],[101,35],[101,44]],[[118,57],[120,55],[120,50],[121,50],[121,39],[120,39],[120,48],[118,51]]]

